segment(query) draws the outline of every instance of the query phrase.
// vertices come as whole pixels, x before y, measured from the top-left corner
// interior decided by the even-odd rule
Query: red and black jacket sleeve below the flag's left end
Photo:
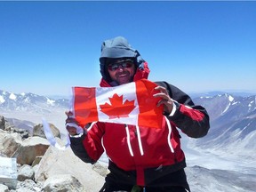
[[[104,152],[101,145],[102,123],[92,124],[81,137],[69,137],[74,154],[85,163],[95,164]]]

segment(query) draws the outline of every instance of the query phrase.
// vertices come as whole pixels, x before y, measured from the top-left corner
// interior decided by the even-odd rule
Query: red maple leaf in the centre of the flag
[[[120,97],[115,93],[112,98],[109,98],[111,105],[107,102],[100,105],[100,111],[109,116],[109,119],[129,117],[129,114],[135,108],[134,100],[125,100],[123,103],[123,95]]]

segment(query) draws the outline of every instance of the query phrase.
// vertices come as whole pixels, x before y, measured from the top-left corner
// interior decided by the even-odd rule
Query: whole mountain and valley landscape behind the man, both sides
[[[192,191],[253,191],[256,96],[218,92],[202,94],[193,101],[207,109],[211,128],[200,139],[190,139],[180,132],[188,164],[185,171]],[[67,99],[0,91],[0,116],[8,117],[8,122],[19,128],[31,130],[46,116],[60,132],[66,132],[64,111],[68,108]],[[108,157],[102,156],[100,160],[107,163]]]

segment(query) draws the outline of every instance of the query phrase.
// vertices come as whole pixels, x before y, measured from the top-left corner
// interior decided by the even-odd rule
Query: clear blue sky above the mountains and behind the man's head
[[[152,81],[256,92],[256,2],[0,2],[0,90],[99,86],[100,44],[124,36]]]

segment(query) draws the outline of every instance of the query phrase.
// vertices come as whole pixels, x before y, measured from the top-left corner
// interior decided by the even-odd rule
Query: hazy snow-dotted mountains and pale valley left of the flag
[[[0,90],[0,116],[9,118],[8,121],[12,121],[13,124],[19,124],[17,127],[25,126],[27,130],[31,130],[32,125],[25,125],[24,122],[42,124],[42,118],[44,118],[58,127],[60,132],[66,133],[65,111],[69,108],[70,100],[68,99],[52,99],[30,92],[17,94]]]

